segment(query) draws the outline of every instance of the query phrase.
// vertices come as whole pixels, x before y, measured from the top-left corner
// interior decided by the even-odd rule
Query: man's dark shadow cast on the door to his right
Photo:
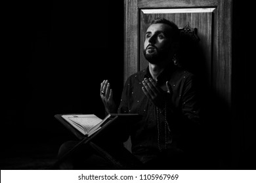
[[[211,71],[207,69],[203,48],[197,29],[189,26],[180,29],[181,45],[177,58],[187,71],[196,76],[198,99],[201,110],[201,129],[198,137],[203,169],[230,168],[230,121],[231,113],[224,99],[211,88]],[[209,66],[208,66],[209,68]]]

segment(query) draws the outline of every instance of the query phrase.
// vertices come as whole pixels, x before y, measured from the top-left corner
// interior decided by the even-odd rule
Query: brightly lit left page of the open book
[[[98,118],[94,114],[63,115],[62,117],[84,135],[95,127],[95,125],[102,122],[102,119]]]

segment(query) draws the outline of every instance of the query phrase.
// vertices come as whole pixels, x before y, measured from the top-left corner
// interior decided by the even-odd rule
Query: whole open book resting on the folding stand
[[[76,136],[81,137],[80,134],[77,134],[77,131],[79,131],[82,136],[90,137],[104,125],[113,122],[117,118],[129,120],[138,116],[139,114],[108,114],[102,120],[95,114],[56,114],[55,118],[68,127]]]

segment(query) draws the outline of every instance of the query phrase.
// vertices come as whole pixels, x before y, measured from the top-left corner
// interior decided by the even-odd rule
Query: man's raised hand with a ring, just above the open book
[[[110,89],[110,82],[108,80],[104,80],[100,84],[100,98],[108,114],[116,113],[116,103],[114,102],[113,91]]]

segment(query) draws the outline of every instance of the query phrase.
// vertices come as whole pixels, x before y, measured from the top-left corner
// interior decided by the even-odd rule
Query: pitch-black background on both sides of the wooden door
[[[34,162],[45,161],[45,148],[54,161],[60,144],[74,139],[54,114],[104,116],[99,95],[104,79],[110,80],[119,101],[123,2],[22,1],[3,8],[1,169],[41,169]],[[221,136],[216,134],[221,145],[215,142],[213,147],[218,154],[211,154],[219,161],[216,169],[255,169],[255,41],[250,8],[234,2],[232,116],[220,118],[219,126],[213,127],[222,131]],[[35,154],[39,155],[34,158]],[[28,162],[27,167],[20,165]]]

